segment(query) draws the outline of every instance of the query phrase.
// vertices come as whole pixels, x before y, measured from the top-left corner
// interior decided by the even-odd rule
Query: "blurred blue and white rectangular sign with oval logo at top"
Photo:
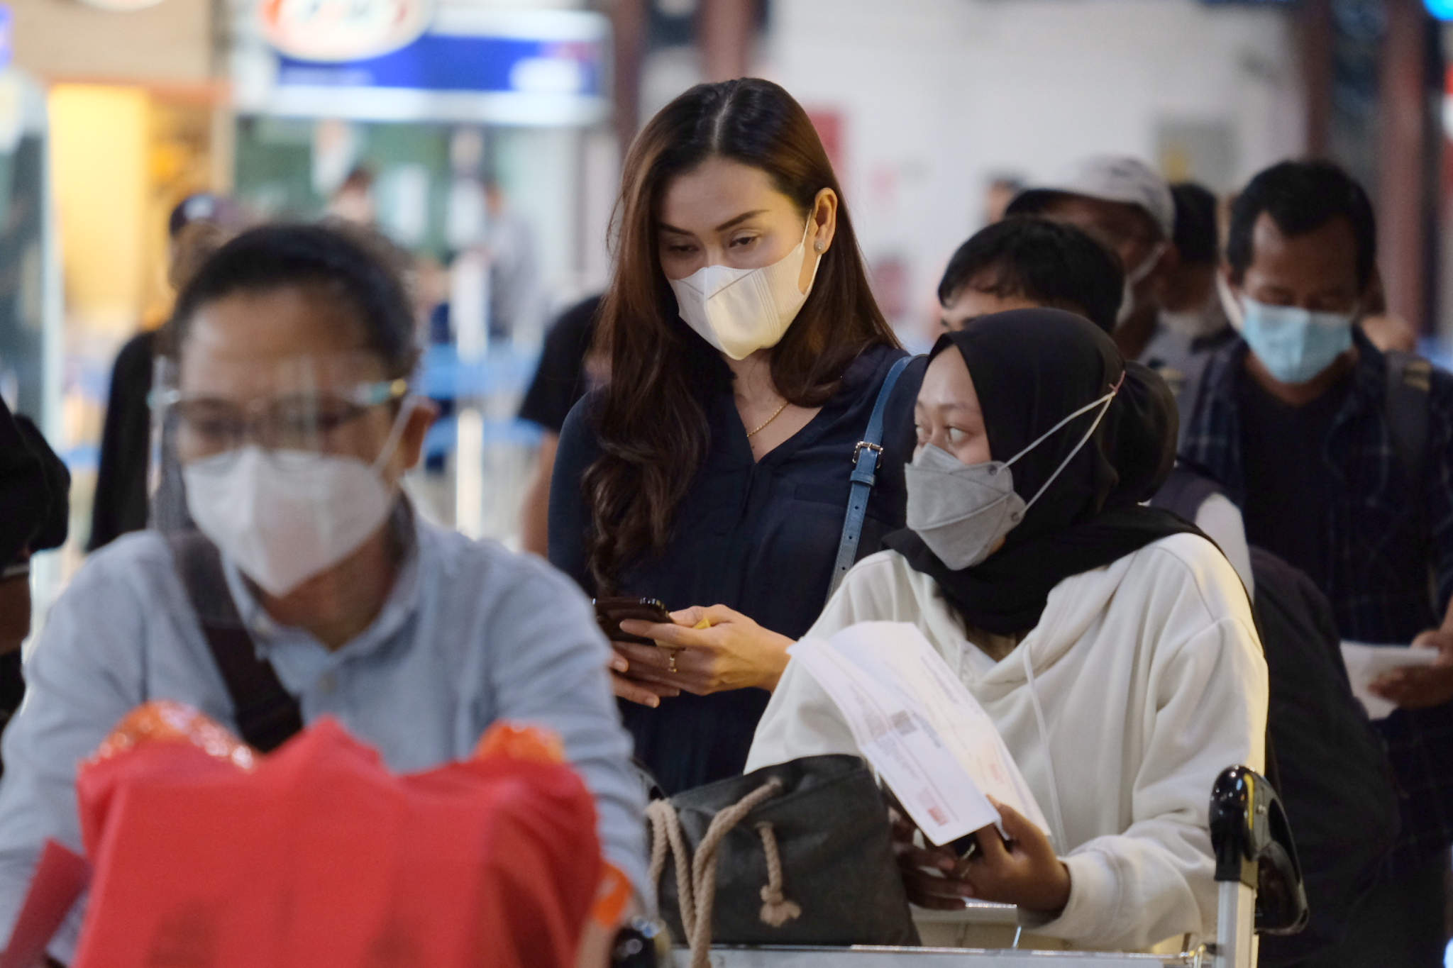
[[[610,113],[610,22],[590,10],[267,0],[237,58],[241,113],[587,125]]]

